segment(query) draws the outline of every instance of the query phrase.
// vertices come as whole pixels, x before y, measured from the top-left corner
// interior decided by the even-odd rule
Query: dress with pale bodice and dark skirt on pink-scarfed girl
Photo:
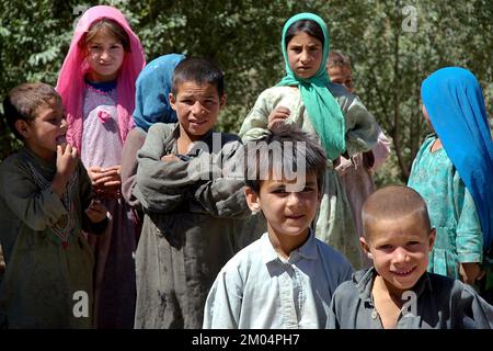
[[[83,111],[84,166],[119,165],[123,145],[117,124],[116,82],[88,83]],[[135,217],[123,197],[101,201],[111,214],[110,225],[103,236],[88,238],[96,259],[96,322],[100,328],[131,328],[136,295]]]

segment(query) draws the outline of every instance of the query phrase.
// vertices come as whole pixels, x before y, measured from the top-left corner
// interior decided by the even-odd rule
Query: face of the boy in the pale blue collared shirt
[[[270,233],[277,237],[300,236],[305,240],[308,227],[313,220],[320,202],[317,174],[308,173],[302,191],[288,192],[286,189],[296,180],[265,180],[261,183],[260,194],[245,189],[250,210],[262,211]]]

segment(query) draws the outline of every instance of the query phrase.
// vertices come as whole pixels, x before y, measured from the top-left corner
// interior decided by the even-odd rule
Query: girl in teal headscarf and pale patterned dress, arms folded
[[[273,124],[289,123],[318,137],[329,162],[316,234],[344,253],[354,268],[360,268],[358,235],[334,163],[343,152],[351,157],[371,149],[378,125],[356,95],[331,83],[325,70],[330,36],[320,16],[299,13],[290,18],[280,47],[286,76],[260,94],[239,135],[246,143]]]

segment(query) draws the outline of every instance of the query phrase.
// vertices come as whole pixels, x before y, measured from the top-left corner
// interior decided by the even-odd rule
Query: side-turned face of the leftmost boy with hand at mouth
[[[64,106],[56,99],[50,99],[35,113],[36,117],[31,123],[18,120],[15,127],[30,150],[38,157],[51,161],[56,156],[57,145],[66,143],[67,122]]]

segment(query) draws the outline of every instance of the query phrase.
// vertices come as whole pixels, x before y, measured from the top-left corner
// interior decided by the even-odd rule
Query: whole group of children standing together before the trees
[[[348,61],[330,59],[324,21],[290,18],[280,45],[286,76],[237,136],[214,131],[215,64],[145,66],[118,10],[82,15],[56,91],[24,83],[3,102],[24,148],[0,163],[1,327],[493,327],[470,286],[493,237],[472,73],[423,83],[436,135],[413,165],[422,195],[375,191],[389,143],[351,71],[331,82]]]

